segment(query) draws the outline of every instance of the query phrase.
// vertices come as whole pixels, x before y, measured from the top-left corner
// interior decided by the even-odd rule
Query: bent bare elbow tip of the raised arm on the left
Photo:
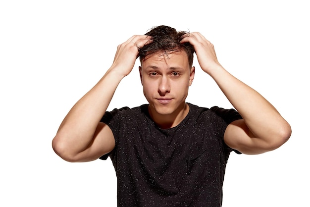
[[[70,153],[70,147],[66,144],[61,137],[55,136],[52,140],[52,149],[56,155],[60,156],[63,160],[68,162],[77,162],[72,153]]]

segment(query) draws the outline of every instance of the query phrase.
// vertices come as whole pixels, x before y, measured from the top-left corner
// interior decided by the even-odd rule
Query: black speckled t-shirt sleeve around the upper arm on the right
[[[224,109],[224,108],[220,108],[218,106],[213,106],[210,108],[211,111],[213,111],[217,116],[219,116],[223,121],[223,130],[222,130],[222,137],[224,137],[224,133],[225,130],[227,128],[227,126],[238,119],[242,119],[242,116],[238,113],[238,111],[236,111],[235,109]],[[237,154],[242,154],[239,151],[232,149],[230,147],[228,147],[225,142],[223,142],[225,145],[225,148],[229,151],[234,151]]]

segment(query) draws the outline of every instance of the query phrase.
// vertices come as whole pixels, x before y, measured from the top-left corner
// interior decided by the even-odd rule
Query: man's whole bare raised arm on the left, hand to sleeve
[[[57,155],[70,162],[98,159],[115,146],[111,129],[100,122],[113,94],[127,76],[138,56],[137,45],[144,46],[147,36],[133,36],[117,47],[112,66],[103,78],[68,112],[52,140]]]

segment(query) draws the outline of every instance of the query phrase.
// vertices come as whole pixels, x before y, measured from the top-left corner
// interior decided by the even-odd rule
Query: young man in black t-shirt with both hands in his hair
[[[186,103],[194,52],[236,110]],[[106,112],[138,56],[149,104]],[[112,66],[69,111],[52,147],[71,162],[110,156],[118,206],[220,207],[230,152],[264,153],[290,135],[279,112],[219,64],[204,36],[158,26],[118,46]]]

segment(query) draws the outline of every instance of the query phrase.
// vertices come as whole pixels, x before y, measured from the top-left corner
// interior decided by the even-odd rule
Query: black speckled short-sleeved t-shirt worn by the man
[[[119,207],[221,206],[232,151],[223,136],[227,125],[242,117],[234,109],[189,106],[184,120],[170,129],[155,125],[148,104],[104,114],[101,121],[116,144],[100,158],[113,162]]]

